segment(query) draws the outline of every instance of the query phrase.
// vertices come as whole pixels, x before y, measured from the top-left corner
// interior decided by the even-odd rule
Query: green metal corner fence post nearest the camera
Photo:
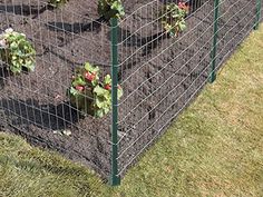
[[[111,175],[110,185],[117,186],[120,184],[120,177],[118,176],[118,46],[117,46],[117,33],[118,33],[118,19],[110,19],[110,39],[111,39]]]

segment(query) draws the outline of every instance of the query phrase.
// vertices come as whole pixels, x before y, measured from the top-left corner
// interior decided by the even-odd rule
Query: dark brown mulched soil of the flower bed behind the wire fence
[[[77,2],[51,10],[38,0],[0,0],[0,29],[25,32],[38,53],[33,72],[11,76],[1,69],[0,127],[106,177],[110,171],[110,115],[81,117],[68,104],[66,90],[72,69],[86,61],[100,66],[104,75],[110,72],[110,28],[97,14],[97,0]],[[119,24],[119,80],[125,91],[119,104],[121,171],[195,98],[211,71],[213,1],[199,1],[202,7],[188,16],[187,31],[178,38],[168,38],[153,22],[163,2],[149,2],[126,0],[130,16]],[[228,0],[221,13],[218,23],[224,28],[218,31],[217,65],[252,29],[254,6]],[[68,130],[70,136],[60,135]]]

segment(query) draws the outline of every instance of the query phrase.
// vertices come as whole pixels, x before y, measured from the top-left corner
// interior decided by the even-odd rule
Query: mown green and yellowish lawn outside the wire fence
[[[263,27],[124,178],[0,134],[0,197],[263,196]]]

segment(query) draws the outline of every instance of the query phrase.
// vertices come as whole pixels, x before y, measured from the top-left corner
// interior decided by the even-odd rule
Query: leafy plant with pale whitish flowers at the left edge
[[[36,63],[36,50],[27,40],[26,35],[9,28],[0,35],[0,57],[7,69],[20,73],[22,69],[32,71]]]

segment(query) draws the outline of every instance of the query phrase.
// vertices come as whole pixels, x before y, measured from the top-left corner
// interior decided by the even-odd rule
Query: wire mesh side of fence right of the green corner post
[[[150,1],[120,22],[119,176],[196,97],[212,73],[214,1],[191,1],[187,30],[169,38]],[[256,1],[222,0],[215,71],[255,24]],[[167,13],[163,13],[167,14]],[[130,47],[132,46],[132,47]]]

